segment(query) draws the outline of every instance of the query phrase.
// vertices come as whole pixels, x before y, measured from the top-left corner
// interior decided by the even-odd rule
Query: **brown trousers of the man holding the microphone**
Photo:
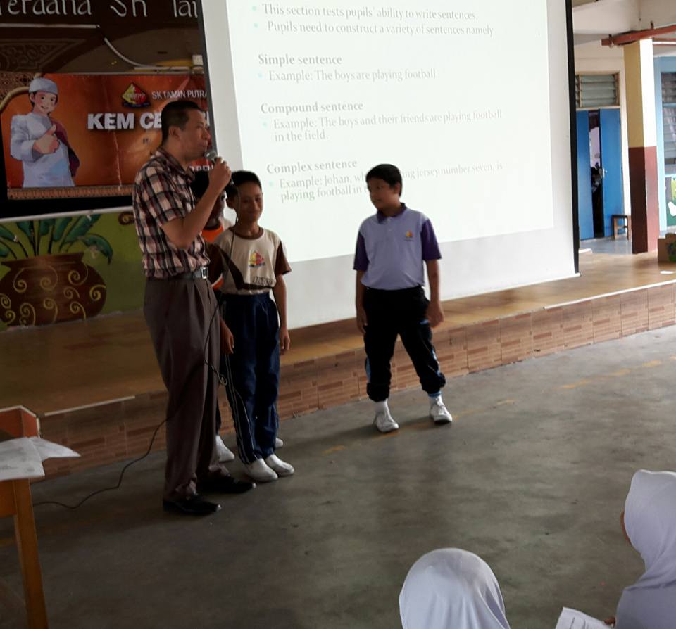
[[[215,445],[220,324],[205,279],[149,279],[143,313],[150,330],[167,404],[164,499],[196,493],[196,483],[227,476]],[[205,351],[206,346],[206,351]]]

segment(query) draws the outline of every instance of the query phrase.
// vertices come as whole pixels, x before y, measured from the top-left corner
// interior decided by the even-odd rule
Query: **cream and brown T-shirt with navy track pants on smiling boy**
[[[234,337],[234,353],[221,361],[221,371],[231,380],[226,390],[239,458],[251,464],[275,452],[280,324],[270,291],[291,267],[280,237],[269,229],[247,238],[230,228],[214,244],[223,256],[221,314]]]

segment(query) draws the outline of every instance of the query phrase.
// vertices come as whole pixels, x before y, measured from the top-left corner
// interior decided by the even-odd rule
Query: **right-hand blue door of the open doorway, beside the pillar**
[[[601,109],[601,167],[603,167],[603,235],[612,236],[611,216],[625,213],[619,109]]]

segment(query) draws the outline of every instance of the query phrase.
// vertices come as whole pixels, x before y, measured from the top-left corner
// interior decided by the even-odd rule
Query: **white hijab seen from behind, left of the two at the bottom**
[[[403,629],[509,629],[489,565],[458,548],[433,550],[406,575],[399,594]]]

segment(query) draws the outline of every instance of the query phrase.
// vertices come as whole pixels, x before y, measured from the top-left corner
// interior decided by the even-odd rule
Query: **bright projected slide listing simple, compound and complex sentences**
[[[545,2],[203,6],[218,149],[290,260],[351,253],[383,162],[440,241],[553,226]]]

